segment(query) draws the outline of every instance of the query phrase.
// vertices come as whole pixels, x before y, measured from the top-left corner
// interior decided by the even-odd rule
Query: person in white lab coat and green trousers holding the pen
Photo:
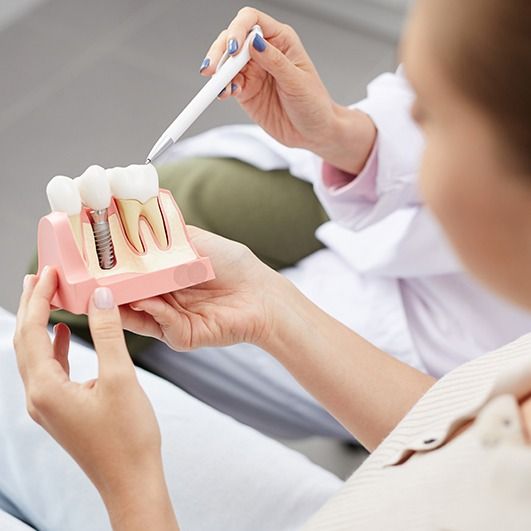
[[[213,72],[225,45],[217,40],[208,52],[204,75]],[[298,40],[287,45],[290,53],[304,54]],[[269,88],[255,93],[266,72]],[[273,97],[290,83],[291,97]],[[331,100],[309,60],[300,73],[257,52],[235,85],[222,99],[232,94],[273,138],[306,151],[290,150],[250,126],[181,143],[159,173],[188,223],[249,246],[327,313],[436,378],[530,329],[528,311],[463,271],[419,198],[424,140],[409,116],[414,94],[402,69],[371,83],[367,99],[351,109]],[[208,154],[245,162],[204,158]],[[201,158],[175,161],[183,156]],[[248,164],[265,167],[268,157],[269,167],[289,170]],[[317,195],[292,175],[314,181]],[[64,312],[55,320],[88,337],[86,321]],[[351,437],[257,346],[204,347],[178,356],[145,338],[129,346],[138,365],[264,433]]]

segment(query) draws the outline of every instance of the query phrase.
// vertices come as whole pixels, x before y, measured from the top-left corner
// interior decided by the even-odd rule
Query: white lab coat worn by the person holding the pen
[[[233,157],[264,170],[287,168],[314,183],[331,221],[325,250],[283,273],[316,304],[399,359],[441,376],[531,330],[531,314],[491,295],[465,273],[431,213],[417,177],[422,134],[409,115],[413,93],[399,68],[355,105],[378,129],[374,198],[356,186],[331,190],[314,154],[282,146],[257,126],[213,129],[176,144],[161,162]]]

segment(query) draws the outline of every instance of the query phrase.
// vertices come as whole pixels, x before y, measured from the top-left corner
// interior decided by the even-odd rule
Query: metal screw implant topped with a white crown
[[[107,174],[101,166],[89,166],[76,181],[81,200],[90,209],[94,242],[100,267],[112,269],[116,265],[114,245],[109,226],[111,189]]]

